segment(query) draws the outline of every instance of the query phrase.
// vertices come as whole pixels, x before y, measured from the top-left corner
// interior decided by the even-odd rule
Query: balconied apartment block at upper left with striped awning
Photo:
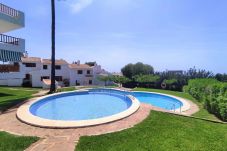
[[[5,33],[24,27],[24,13],[0,3],[0,61],[18,62],[25,53],[25,40]],[[17,70],[17,66],[0,66],[0,70]]]

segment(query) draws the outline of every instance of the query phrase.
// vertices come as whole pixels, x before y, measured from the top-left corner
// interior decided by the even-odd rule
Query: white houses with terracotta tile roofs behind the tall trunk
[[[97,76],[103,69],[96,63],[69,64],[60,59],[55,61],[55,80],[59,86],[102,85]],[[0,73],[0,85],[44,87],[43,79],[51,77],[51,60],[37,57],[22,57],[18,72]]]

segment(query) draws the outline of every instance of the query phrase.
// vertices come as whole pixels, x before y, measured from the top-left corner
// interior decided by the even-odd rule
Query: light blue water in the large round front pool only
[[[42,99],[30,107],[30,112],[52,120],[88,120],[120,113],[131,104],[122,95],[73,92]]]

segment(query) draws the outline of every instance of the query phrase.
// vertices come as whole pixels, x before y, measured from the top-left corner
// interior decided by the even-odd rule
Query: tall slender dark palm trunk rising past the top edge
[[[51,0],[51,85],[50,93],[55,92],[55,0]]]

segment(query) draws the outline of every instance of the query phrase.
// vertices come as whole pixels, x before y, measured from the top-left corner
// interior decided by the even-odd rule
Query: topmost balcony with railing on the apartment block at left
[[[0,33],[24,27],[24,13],[0,3]]]

